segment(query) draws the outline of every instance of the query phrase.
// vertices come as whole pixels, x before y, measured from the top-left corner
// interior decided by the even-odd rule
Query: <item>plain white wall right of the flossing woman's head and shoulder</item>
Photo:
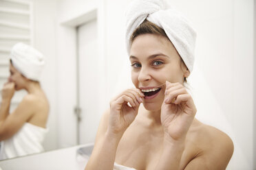
[[[233,139],[229,169],[253,169],[253,1],[214,3],[208,11],[219,5],[224,10],[196,24],[200,35],[191,85],[197,117]]]

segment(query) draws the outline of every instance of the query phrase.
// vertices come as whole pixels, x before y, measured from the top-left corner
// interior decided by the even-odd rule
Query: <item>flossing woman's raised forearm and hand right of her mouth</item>
[[[164,130],[162,154],[156,169],[180,169],[186,134],[195,117],[196,108],[186,88],[180,83],[166,82],[161,123]]]

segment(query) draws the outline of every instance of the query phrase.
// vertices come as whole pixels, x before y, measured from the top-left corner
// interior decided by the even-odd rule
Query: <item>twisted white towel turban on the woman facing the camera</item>
[[[126,11],[126,43],[130,51],[130,38],[145,19],[164,29],[169,40],[191,72],[193,70],[196,33],[185,17],[169,8],[164,0],[135,0]]]

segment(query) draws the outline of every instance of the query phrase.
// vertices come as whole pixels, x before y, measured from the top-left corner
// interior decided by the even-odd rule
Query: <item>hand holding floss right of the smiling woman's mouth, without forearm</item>
[[[197,112],[193,99],[180,83],[166,82],[161,122],[164,135],[171,141],[180,141],[186,134]]]

